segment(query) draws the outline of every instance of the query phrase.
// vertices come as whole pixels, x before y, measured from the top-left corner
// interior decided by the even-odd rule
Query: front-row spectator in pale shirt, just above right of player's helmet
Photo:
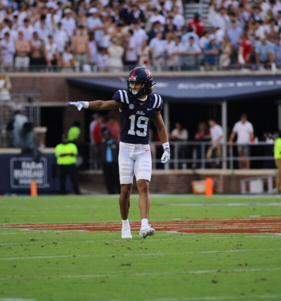
[[[157,33],[156,37],[150,41],[149,46],[153,65],[158,71],[161,71],[165,65],[165,42],[162,40],[162,33]]]

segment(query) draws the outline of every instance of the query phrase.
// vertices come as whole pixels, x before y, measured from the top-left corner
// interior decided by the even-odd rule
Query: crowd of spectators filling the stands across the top
[[[214,70],[281,65],[280,0],[213,0],[208,22],[181,0],[2,0],[6,70]]]

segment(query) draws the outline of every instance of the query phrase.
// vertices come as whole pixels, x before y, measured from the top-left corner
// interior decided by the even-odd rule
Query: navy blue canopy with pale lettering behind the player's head
[[[68,78],[70,85],[97,91],[126,89],[125,78]],[[155,77],[155,93],[169,102],[208,103],[278,97],[281,76]]]

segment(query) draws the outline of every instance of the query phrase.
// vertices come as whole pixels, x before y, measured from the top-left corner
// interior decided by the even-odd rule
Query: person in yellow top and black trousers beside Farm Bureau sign
[[[61,193],[66,194],[65,180],[68,175],[75,194],[80,194],[75,166],[78,156],[77,146],[69,142],[66,135],[62,135],[62,143],[56,146],[55,155],[57,157]]]

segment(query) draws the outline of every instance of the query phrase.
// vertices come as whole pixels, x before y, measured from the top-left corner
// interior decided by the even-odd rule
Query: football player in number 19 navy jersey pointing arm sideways
[[[151,72],[145,67],[135,67],[127,78],[127,90],[118,90],[112,100],[95,100],[91,102],[68,102],[80,111],[82,108],[92,110],[119,109],[121,117],[121,135],[119,144],[119,176],[121,193],[119,197],[122,218],[122,238],[132,238],[128,213],[133,175],[136,178],[139,193],[139,210],[142,225],[139,237],[146,238],[155,234],[148,222],[150,196],[149,185],[152,173],[152,158],[149,145],[149,127],[153,121],[159,132],[164,148],[162,163],[170,160],[168,134],[162,119],[163,101],[160,95],[152,94],[154,89]]]

